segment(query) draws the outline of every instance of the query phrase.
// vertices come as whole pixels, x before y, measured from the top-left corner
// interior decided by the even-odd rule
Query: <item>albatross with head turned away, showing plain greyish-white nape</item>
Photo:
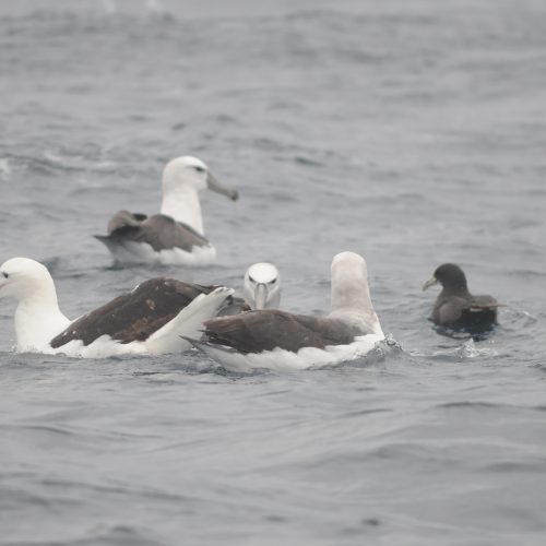
[[[366,355],[384,340],[368,287],[366,261],[354,252],[332,260],[332,302],[327,317],[276,309],[248,311],[204,322],[193,342],[227,369],[305,369]]]

